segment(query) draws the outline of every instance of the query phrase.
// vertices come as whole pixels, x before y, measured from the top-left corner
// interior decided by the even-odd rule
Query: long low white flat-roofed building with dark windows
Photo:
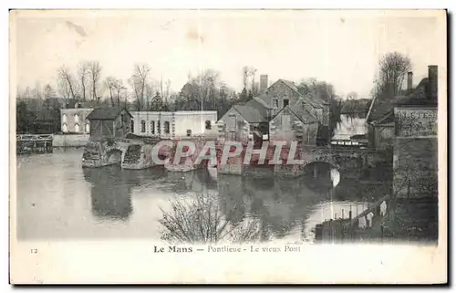
[[[131,132],[140,136],[179,138],[216,135],[216,110],[130,111]]]

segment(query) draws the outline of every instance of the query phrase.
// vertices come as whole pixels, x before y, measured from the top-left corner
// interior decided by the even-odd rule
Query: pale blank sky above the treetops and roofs
[[[432,11],[23,11],[11,16],[11,60],[19,89],[56,86],[57,68],[76,73],[96,60],[102,78],[130,78],[135,64],[179,91],[189,72],[216,69],[241,90],[242,68],[256,80],[317,78],[340,96],[368,98],[378,60],[399,51],[411,59],[414,84],[441,64],[439,14]],[[443,64],[444,65],[444,64]]]

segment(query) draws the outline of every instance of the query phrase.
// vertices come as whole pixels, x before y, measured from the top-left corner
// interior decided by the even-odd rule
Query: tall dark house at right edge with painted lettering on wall
[[[437,66],[407,96],[394,100],[395,192],[399,197],[437,197]]]

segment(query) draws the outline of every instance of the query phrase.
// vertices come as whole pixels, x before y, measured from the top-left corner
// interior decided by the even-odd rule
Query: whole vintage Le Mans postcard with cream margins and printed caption
[[[441,284],[444,10],[12,10],[13,284]]]

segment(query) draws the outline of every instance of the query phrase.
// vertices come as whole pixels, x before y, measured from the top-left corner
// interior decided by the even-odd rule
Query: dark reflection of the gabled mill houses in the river
[[[221,208],[234,211],[233,221],[259,219],[275,238],[300,234],[303,224],[316,203],[330,200],[331,193],[317,193],[306,186],[303,178],[264,180],[219,175]]]

